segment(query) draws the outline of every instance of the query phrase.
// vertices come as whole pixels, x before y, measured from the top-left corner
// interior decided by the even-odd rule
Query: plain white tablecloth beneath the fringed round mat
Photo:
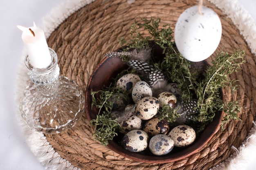
[[[43,170],[30,151],[15,117],[15,79],[23,42],[17,24],[42,26],[42,18],[64,0],[2,0],[0,2],[0,170]],[[256,20],[256,1],[239,0]],[[256,156],[246,170],[255,170]]]

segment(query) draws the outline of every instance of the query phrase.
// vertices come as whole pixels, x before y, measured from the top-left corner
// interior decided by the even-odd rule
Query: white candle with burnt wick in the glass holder
[[[22,33],[22,40],[25,44],[29,62],[35,68],[45,68],[52,62],[48,44],[45,39],[45,33],[42,29],[34,26],[29,28],[17,26]]]

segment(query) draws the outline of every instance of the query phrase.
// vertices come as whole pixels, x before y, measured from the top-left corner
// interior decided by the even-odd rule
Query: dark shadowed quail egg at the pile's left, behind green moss
[[[124,110],[124,108],[129,103],[129,97],[127,97],[123,93],[119,93],[119,94],[111,96],[108,99],[108,102],[113,103],[112,110]]]

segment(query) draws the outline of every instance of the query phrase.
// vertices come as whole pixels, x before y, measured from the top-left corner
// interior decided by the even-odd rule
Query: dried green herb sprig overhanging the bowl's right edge
[[[228,87],[232,93],[237,90],[236,81],[229,80],[228,75],[240,71],[240,64],[245,62],[243,60],[244,55],[245,51],[240,50],[235,50],[233,54],[222,51],[217,54],[216,59],[212,62],[212,66],[204,72],[203,76],[205,78],[200,80],[196,89],[198,107],[200,108],[198,121],[212,119],[215,110],[220,109],[225,109],[227,117],[237,118],[236,115],[240,110],[239,108],[236,110],[231,109],[233,107],[231,104],[239,105],[236,101],[223,105],[220,99],[219,88]]]

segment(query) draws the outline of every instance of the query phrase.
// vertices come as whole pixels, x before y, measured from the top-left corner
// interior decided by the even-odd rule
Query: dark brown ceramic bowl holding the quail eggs
[[[159,54],[162,55],[161,49],[154,48],[154,51],[156,54],[158,54],[158,56]],[[99,111],[96,107],[92,107],[91,91],[99,91],[103,90],[105,86],[108,87],[110,83],[110,78],[116,77],[118,73],[127,68],[128,66],[118,57],[106,57],[96,67],[89,79],[85,95],[85,111],[89,120],[96,119]],[[148,149],[143,152],[130,152],[124,149],[119,144],[119,141],[121,141],[121,138],[123,137],[123,135],[121,134],[119,134],[113,140],[108,141],[108,147],[113,151],[117,152],[118,154],[138,162],[169,163],[173,161],[178,161],[189,157],[190,155],[193,155],[194,153],[198,152],[198,150],[200,150],[204,145],[207,144],[207,142],[218,131],[222,116],[223,112],[218,111],[213,118],[213,121],[197,137],[192,145],[186,148],[174,148],[168,155],[155,156],[151,154]]]

